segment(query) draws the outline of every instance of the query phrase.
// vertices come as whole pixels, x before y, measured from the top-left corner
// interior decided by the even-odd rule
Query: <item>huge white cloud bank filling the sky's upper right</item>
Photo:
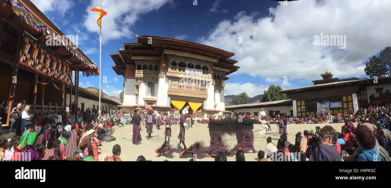
[[[389,46],[391,1],[327,0],[280,3],[269,8],[269,16],[239,12],[202,37],[199,43],[231,51],[241,68],[233,74],[262,76],[276,83],[321,79],[327,68],[335,77],[364,77],[362,63]],[[379,22],[379,20],[382,20]],[[346,35],[346,49],[314,46],[314,36]],[[238,44],[242,37],[243,43]],[[323,57],[323,58],[322,58]]]

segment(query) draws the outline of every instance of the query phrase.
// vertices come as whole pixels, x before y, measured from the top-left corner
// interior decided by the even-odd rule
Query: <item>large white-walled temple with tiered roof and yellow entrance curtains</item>
[[[199,118],[229,113],[224,107],[224,86],[227,75],[239,69],[234,65],[237,61],[230,59],[234,53],[143,35],[137,43],[124,43],[124,50],[110,55],[113,70],[124,76],[121,107],[168,111],[189,105],[189,111]]]

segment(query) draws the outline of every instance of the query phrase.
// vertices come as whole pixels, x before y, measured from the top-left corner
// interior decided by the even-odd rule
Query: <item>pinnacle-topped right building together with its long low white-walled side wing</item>
[[[278,114],[293,117],[319,114],[319,106],[326,108],[327,114],[357,112],[366,106],[391,106],[391,77],[382,78],[332,78],[334,74],[319,74],[323,79],[312,81],[314,85],[278,91],[287,94],[288,100],[226,106],[232,114],[245,112],[258,115],[263,110],[266,115]],[[318,103],[320,105],[318,105]]]

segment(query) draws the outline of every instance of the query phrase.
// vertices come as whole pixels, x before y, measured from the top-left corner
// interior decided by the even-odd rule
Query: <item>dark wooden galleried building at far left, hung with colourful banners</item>
[[[78,101],[79,72],[96,76],[99,67],[30,0],[0,2],[0,99],[11,105],[9,110],[22,102],[41,115],[83,107]],[[89,94],[82,91],[83,96]],[[3,117],[3,125],[8,119]]]

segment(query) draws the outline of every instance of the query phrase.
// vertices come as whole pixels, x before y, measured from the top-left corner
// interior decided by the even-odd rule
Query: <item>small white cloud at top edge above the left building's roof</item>
[[[72,1],[31,0],[31,2],[46,16],[48,12],[56,12],[56,16],[63,17],[73,6]]]

